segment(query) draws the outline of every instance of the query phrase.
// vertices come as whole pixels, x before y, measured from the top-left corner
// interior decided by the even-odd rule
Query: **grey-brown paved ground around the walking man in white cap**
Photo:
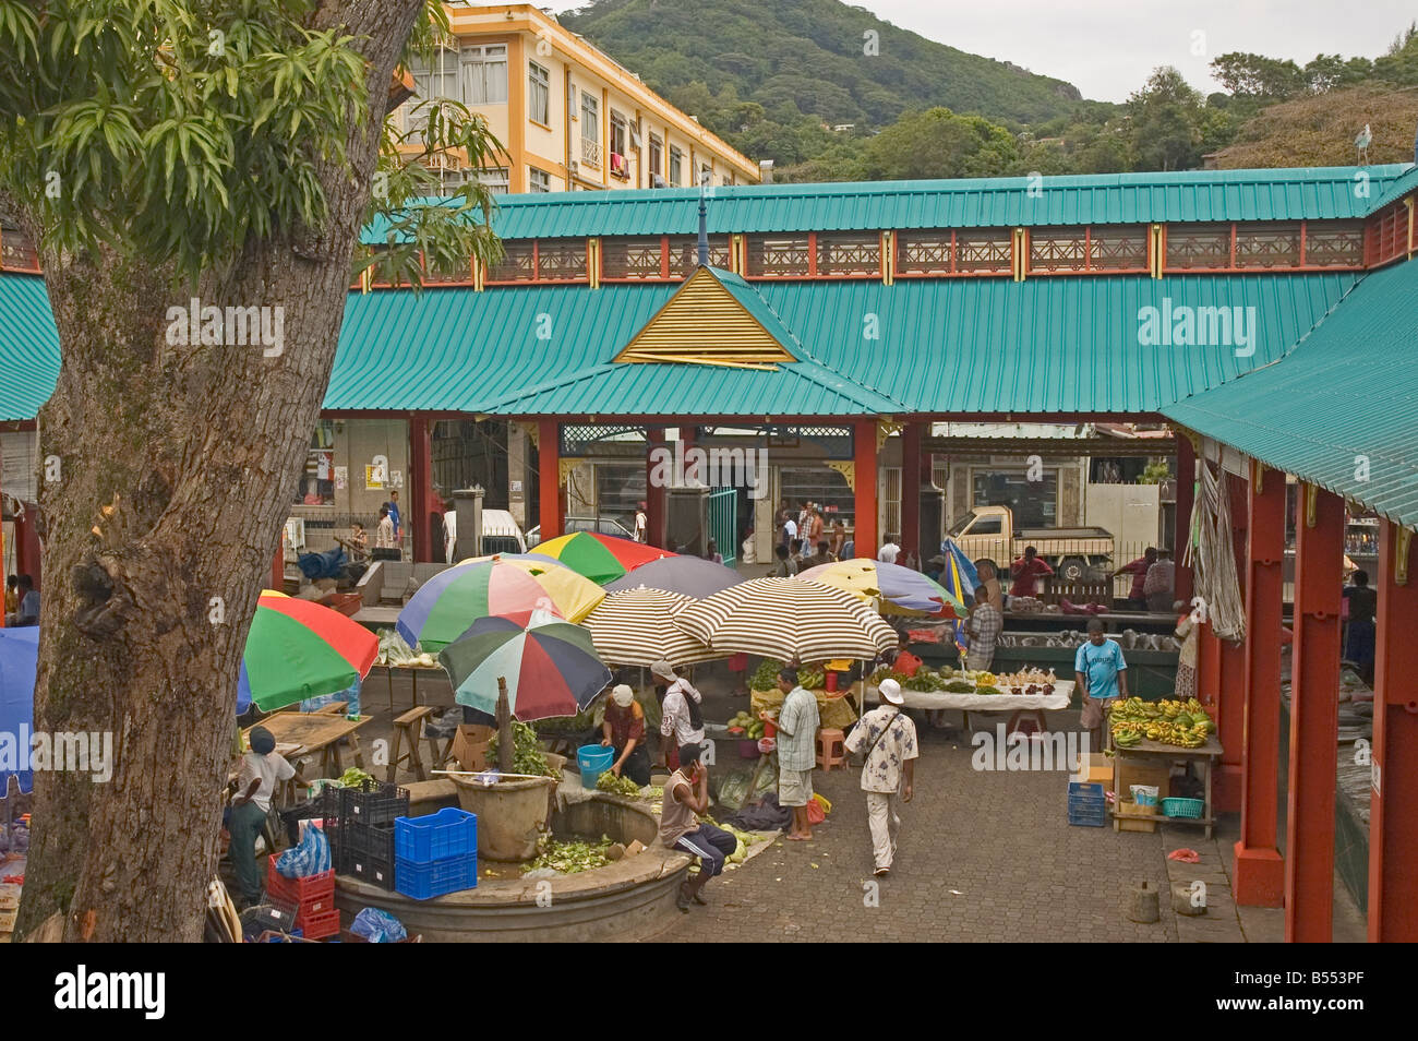
[[[1170,908],[1154,925],[1123,916],[1124,885],[1166,881],[1157,834],[1071,827],[1066,774],[973,770],[973,749],[923,729],[916,796],[903,807],[895,871],[872,881],[856,770],[815,776],[832,800],[813,842],[773,850],[709,884],[691,925],[705,940],[1177,939]]]

